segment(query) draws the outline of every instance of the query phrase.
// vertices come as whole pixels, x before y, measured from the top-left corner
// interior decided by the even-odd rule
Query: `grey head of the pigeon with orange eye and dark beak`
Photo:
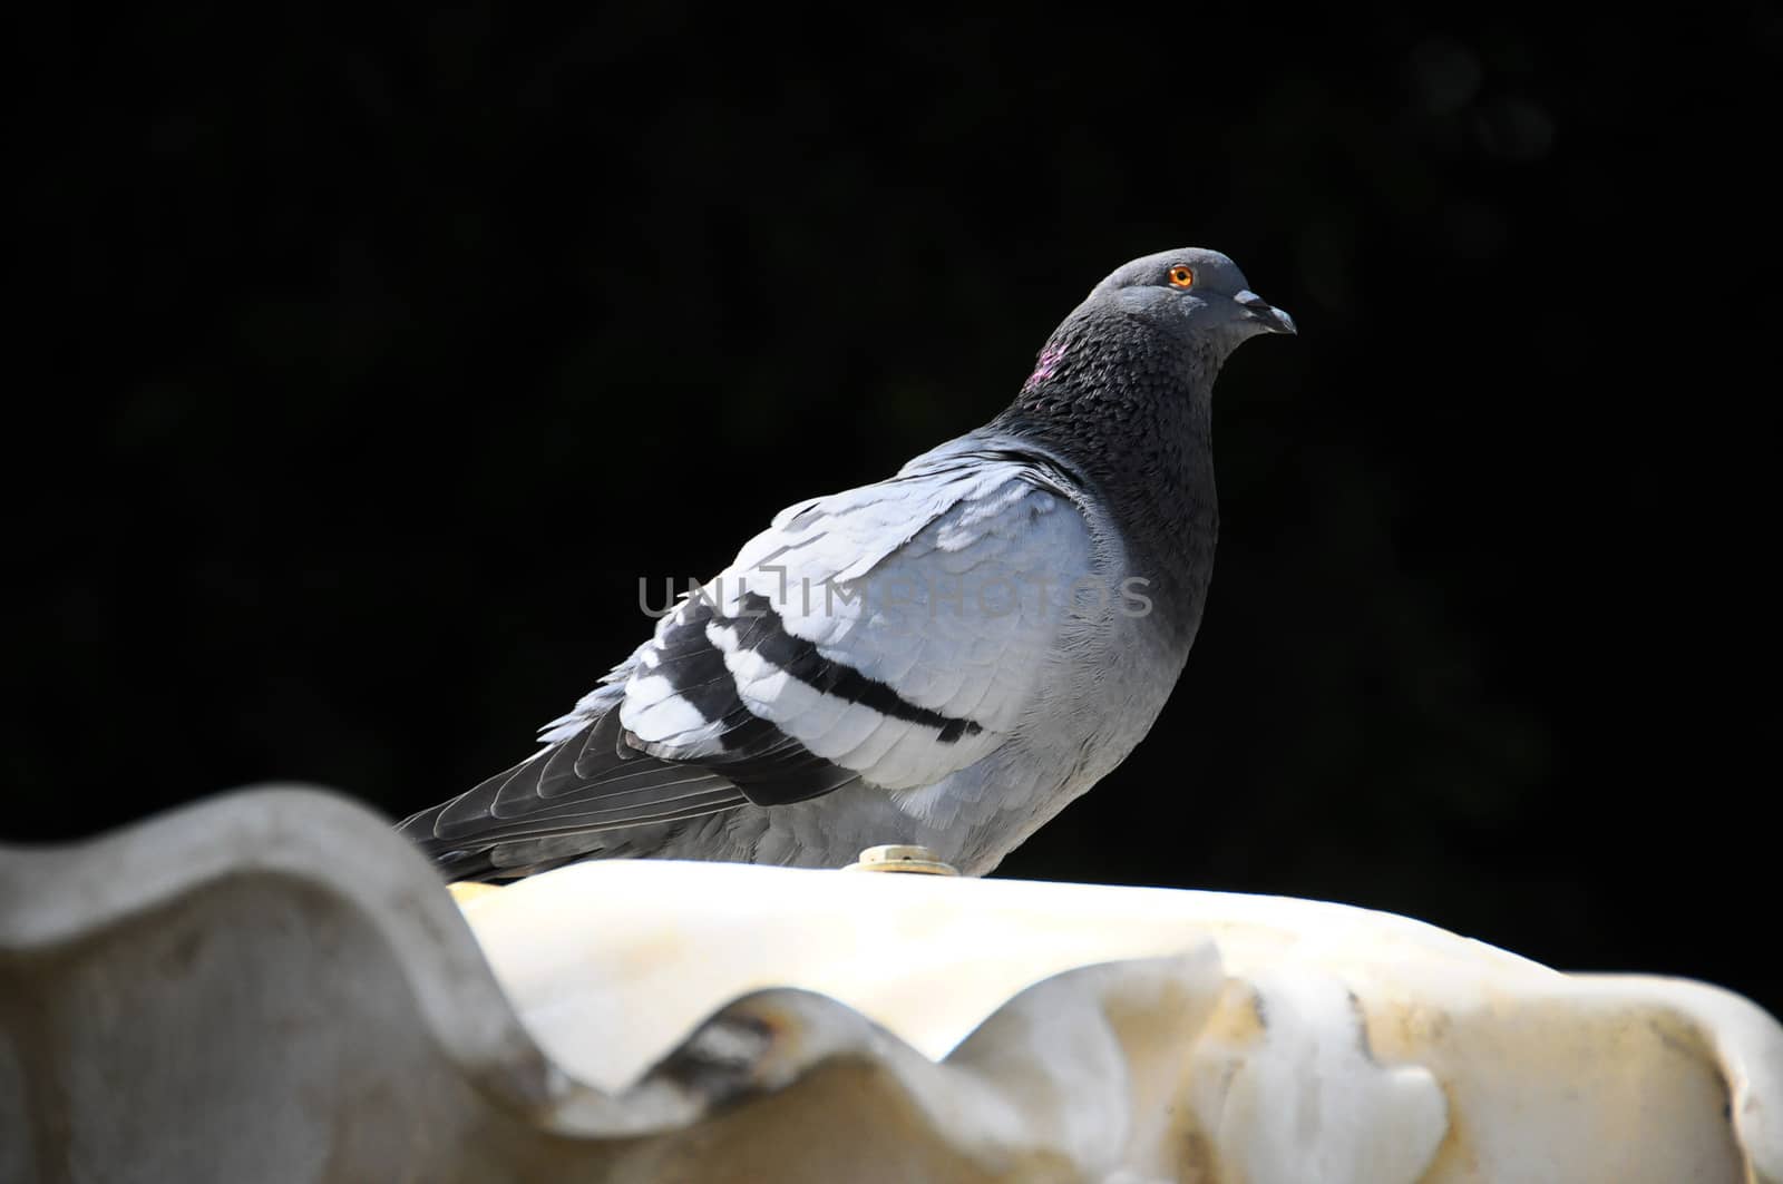
[[[1211,341],[1221,351],[1257,333],[1294,332],[1294,319],[1250,291],[1236,262],[1193,246],[1116,267],[1086,305],[1118,310],[1170,335]]]

